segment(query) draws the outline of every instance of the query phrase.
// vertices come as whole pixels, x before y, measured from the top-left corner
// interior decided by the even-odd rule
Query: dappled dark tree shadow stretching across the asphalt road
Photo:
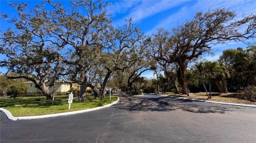
[[[221,104],[203,103],[189,99],[177,99],[175,97],[143,98],[143,97],[120,97],[119,104],[114,106],[128,111],[157,111],[171,112],[182,110],[201,114],[219,113],[225,114],[233,110],[241,109],[234,106],[223,106]]]

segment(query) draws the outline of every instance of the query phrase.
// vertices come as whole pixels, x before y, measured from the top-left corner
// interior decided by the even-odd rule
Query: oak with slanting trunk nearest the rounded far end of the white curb
[[[110,37],[104,42],[105,51],[99,57],[99,61],[106,70],[102,83],[102,97],[105,96],[106,84],[114,72],[124,72],[136,65],[143,58],[144,52],[143,34],[133,24],[132,20],[126,20],[127,24],[112,31]]]

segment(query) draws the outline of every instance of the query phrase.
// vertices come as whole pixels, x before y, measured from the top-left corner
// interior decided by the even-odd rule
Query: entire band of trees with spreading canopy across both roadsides
[[[172,31],[158,29],[146,37],[132,19],[120,27],[114,26],[112,16],[106,11],[109,4],[100,0],[70,1],[70,8],[49,0],[30,11],[25,3],[11,5],[18,16],[1,15],[2,20],[14,26],[1,32],[0,54],[6,58],[0,61],[0,66],[7,69],[3,74],[7,78],[32,81],[47,99],[53,99],[49,87],[56,79],[81,85],[79,97],[83,100],[86,87],[93,89],[96,98],[98,85],[104,97],[108,81],[118,81],[113,76],[123,76],[119,79],[126,84],[118,82],[134,91],[137,87],[133,84],[146,85],[140,76],[148,70],[157,74],[156,80],[147,81],[157,91],[172,86],[179,93],[181,86],[182,93],[188,94],[190,80],[198,81],[192,77],[195,72],[187,72],[189,63],[211,53],[215,44],[247,42],[255,38],[256,32],[254,14],[236,20],[235,12],[224,8],[198,12]],[[226,80],[232,80],[228,78],[230,74],[243,76],[246,85],[253,85],[255,53],[255,46],[225,50],[219,63],[207,61],[196,65],[200,80],[203,82],[204,75],[209,86],[214,80],[223,92],[227,91]],[[151,91],[150,87],[148,90]]]

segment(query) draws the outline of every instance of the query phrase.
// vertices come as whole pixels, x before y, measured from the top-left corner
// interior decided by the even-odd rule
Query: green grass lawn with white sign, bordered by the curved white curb
[[[117,101],[117,96],[112,95],[111,98],[112,101],[108,95],[104,99],[94,99],[93,96],[87,95],[87,100],[83,102],[74,99],[70,110],[68,110],[68,101],[62,101],[66,99],[65,95],[56,97],[54,105],[51,101],[45,101],[45,97],[23,97],[23,99],[1,101],[0,106],[9,110],[12,116],[37,116],[95,108]]]

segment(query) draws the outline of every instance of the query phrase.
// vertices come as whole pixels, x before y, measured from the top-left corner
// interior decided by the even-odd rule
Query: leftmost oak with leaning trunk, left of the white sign
[[[6,57],[0,61],[1,67],[7,69],[4,74],[7,78],[32,81],[47,99],[53,99],[49,87],[53,86],[62,58],[58,48],[48,42],[51,37],[45,28],[47,22],[38,18],[37,12],[26,12],[24,3],[12,3],[11,6],[17,10],[18,17],[9,18],[7,14],[1,17],[12,24],[1,33],[0,39],[0,54]]]

